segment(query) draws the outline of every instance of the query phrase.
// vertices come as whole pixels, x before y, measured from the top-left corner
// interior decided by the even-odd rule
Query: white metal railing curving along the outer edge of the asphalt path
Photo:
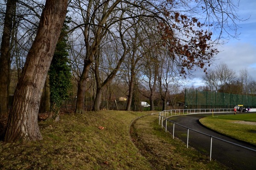
[[[200,114],[200,113],[229,113],[229,112],[233,112],[233,108],[232,109],[185,109],[185,110],[169,110],[169,111],[161,111],[159,112],[159,125],[160,125],[160,122],[162,123],[162,128],[164,127],[163,126],[163,120],[165,119],[165,125],[167,126],[167,121],[169,122],[172,122],[173,123],[173,130],[172,130],[172,138],[174,139],[174,131],[175,131],[175,125],[179,125],[181,127],[184,127],[187,129],[187,141],[186,141],[186,144],[187,144],[187,148],[189,147],[189,130],[192,130],[194,132],[197,132],[197,133],[200,133],[200,134],[203,134],[205,136],[209,136],[210,139],[211,139],[211,143],[210,143],[210,161],[212,159],[212,138],[214,139],[218,139],[218,140],[221,140],[223,142],[227,142],[229,144],[233,144],[233,145],[236,145],[236,146],[239,146],[239,147],[242,147],[244,149],[247,149],[247,150],[251,150],[251,151],[254,151],[256,152],[256,150],[254,149],[251,149],[251,148],[248,148],[248,147],[244,147],[242,145],[239,145],[239,144],[236,144],[236,143],[233,143],[233,142],[229,142],[229,141],[226,141],[224,139],[220,139],[218,137],[215,137],[215,136],[211,136],[211,135],[208,135],[206,133],[202,133],[202,132],[199,132],[197,130],[193,130],[189,127],[185,127],[183,125],[180,125],[180,124],[177,124],[171,120],[168,119],[169,116],[174,116],[174,115],[185,115],[185,114]],[[167,127],[165,127],[165,131],[167,132]],[[171,132],[170,132],[171,133]]]

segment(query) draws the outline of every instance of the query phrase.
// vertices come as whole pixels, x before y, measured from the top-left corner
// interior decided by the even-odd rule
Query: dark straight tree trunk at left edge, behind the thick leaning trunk
[[[10,40],[12,35],[12,18],[15,14],[15,8],[16,0],[8,0],[6,4],[0,56],[0,113],[6,113],[8,109],[11,63]]]

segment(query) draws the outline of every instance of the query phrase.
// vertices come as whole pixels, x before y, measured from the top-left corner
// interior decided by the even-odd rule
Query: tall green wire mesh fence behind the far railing
[[[236,105],[244,105],[245,108],[255,108],[256,96],[185,90],[186,109],[234,108]]]

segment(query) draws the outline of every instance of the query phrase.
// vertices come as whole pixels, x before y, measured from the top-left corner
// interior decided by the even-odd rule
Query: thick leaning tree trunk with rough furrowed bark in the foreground
[[[58,37],[61,33],[67,0],[46,0],[38,33],[27,55],[14,94],[7,122],[5,142],[35,141],[42,139],[38,127],[41,90],[47,77]]]

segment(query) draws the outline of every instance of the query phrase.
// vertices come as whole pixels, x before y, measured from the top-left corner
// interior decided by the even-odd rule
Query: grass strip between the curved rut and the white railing
[[[158,115],[145,116],[132,125],[132,138],[143,156],[157,170],[226,170],[217,161],[209,161],[193,148],[166,133],[158,125]]]

